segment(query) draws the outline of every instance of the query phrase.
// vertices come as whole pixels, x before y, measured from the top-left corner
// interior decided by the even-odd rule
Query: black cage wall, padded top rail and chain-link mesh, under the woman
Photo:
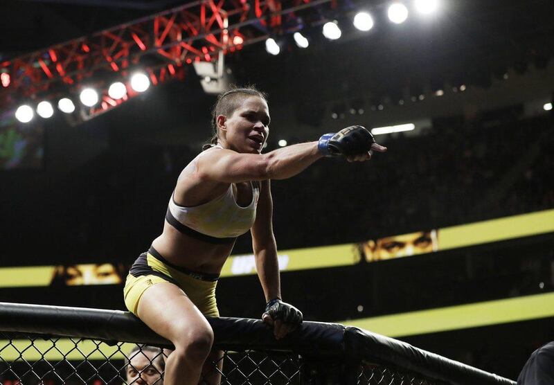
[[[515,384],[343,325],[305,322],[283,342],[258,320],[208,321],[217,353],[199,384]],[[0,303],[1,385],[160,385],[170,348],[126,312]]]

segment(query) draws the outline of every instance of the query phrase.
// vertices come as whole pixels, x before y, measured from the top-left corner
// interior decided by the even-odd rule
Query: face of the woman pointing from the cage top
[[[231,150],[260,154],[269,134],[269,107],[263,98],[247,96],[231,116],[218,117],[218,124]]]

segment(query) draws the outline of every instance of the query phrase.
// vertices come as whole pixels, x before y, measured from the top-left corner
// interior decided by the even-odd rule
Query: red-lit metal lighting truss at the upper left
[[[286,1],[286,3],[285,3]],[[311,1],[311,3],[310,3]],[[193,61],[212,61],[265,38],[281,15],[330,0],[199,0],[157,15],[56,44],[0,63],[4,91],[33,97],[53,84],[76,86],[99,73],[127,75],[136,66],[176,72]],[[4,84],[4,83],[3,83]]]

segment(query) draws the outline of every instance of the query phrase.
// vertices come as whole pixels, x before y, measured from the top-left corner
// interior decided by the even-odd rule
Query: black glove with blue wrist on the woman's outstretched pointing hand
[[[325,156],[356,156],[371,150],[373,135],[361,125],[351,125],[319,138],[318,150]]]

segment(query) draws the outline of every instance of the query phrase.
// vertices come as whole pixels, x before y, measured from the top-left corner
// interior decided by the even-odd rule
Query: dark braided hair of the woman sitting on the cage
[[[267,101],[267,94],[259,91],[253,85],[244,87],[231,86],[229,91],[220,93],[212,108],[212,137],[210,143],[206,143],[202,146],[202,150],[208,150],[208,148],[217,145],[217,116],[231,116],[235,109],[238,109],[240,106],[240,102],[244,96],[259,96]]]

